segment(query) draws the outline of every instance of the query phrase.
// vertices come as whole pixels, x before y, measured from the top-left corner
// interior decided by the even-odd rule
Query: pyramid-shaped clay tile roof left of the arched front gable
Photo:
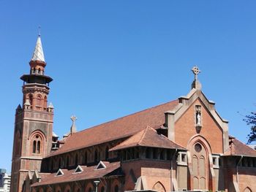
[[[175,142],[170,141],[167,137],[162,134],[157,134],[157,131],[150,126],[147,126],[143,131],[129,137],[129,139],[121,142],[111,150],[121,150],[128,147],[144,146],[144,147],[159,147],[167,149],[180,149],[185,150],[184,147],[177,145]]]

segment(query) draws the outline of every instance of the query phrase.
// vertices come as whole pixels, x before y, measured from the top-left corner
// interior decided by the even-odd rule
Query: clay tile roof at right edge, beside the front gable
[[[224,155],[244,155],[244,156],[253,156],[256,157],[256,150],[253,150],[251,147],[240,142],[235,137],[229,137],[230,139],[230,148],[227,150]]]

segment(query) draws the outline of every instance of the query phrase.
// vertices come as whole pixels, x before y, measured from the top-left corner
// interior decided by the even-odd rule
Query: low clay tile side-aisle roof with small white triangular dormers
[[[55,173],[44,174],[40,173],[42,179],[39,183],[34,183],[31,185],[32,187],[36,187],[39,185],[51,185],[55,183],[67,183],[78,180],[93,180],[101,177],[105,177],[107,174],[119,169],[120,162],[107,163],[104,161],[106,166],[105,169],[95,169],[96,166],[81,166],[83,172],[75,173],[75,169],[67,170],[61,169],[64,173],[62,175],[56,176]],[[122,174],[118,174],[116,176],[122,176]]]

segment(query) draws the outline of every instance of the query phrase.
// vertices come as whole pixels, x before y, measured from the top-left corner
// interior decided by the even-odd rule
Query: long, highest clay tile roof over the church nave
[[[50,153],[49,156],[67,153],[83,147],[90,147],[115,139],[130,137],[146,126],[159,128],[165,123],[165,112],[173,110],[178,104],[178,100],[151,107],[147,110],[127,115],[123,118],[103,123],[99,126],[87,128],[76,132],[65,139],[65,144],[59,150]]]

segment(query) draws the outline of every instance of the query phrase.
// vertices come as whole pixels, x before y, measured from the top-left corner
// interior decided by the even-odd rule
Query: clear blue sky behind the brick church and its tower
[[[11,169],[19,79],[42,27],[59,136],[189,93],[192,66],[230,134],[246,142],[255,110],[256,1],[0,0],[1,158]],[[97,137],[97,136],[95,136]]]

